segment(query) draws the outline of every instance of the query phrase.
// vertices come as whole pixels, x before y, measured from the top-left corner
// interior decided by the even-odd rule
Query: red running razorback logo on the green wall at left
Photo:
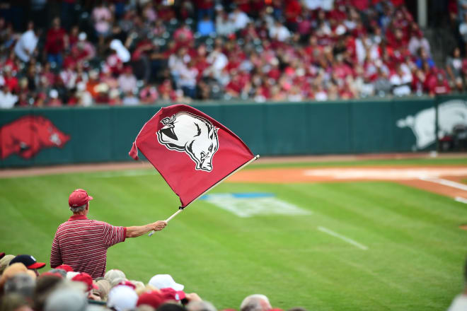
[[[0,157],[13,153],[29,159],[42,148],[62,148],[70,136],[57,129],[45,117],[27,115],[0,127]]]

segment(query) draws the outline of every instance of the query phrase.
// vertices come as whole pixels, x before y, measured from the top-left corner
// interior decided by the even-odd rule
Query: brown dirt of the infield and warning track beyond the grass
[[[466,153],[438,155],[441,158],[465,158]],[[412,159],[431,158],[429,153],[392,153],[370,155],[312,155],[298,157],[260,158],[260,163],[297,163],[297,162],[330,162],[352,160]],[[96,163],[81,165],[58,165],[37,168],[19,168],[0,170],[1,178],[54,175],[69,172],[101,172],[109,170],[138,170],[152,168],[146,161],[125,163]],[[261,182],[261,183],[294,183],[294,182],[355,182],[355,181],[392,181],[429,192],[467,199],[467,185],[461,184],[467,179],[466,166],[351,166],[330,168],[255,168],[241,170],[229,177],[226,182]],[[451,185],[440,183],[440,180],[454,182]],[[458,184],[456,186],[456,184]]]

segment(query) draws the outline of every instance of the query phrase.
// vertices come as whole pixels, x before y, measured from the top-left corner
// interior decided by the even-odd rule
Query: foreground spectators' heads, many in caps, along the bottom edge
[[[217,311],[196,293],[185,293],[185,286],[169,274],[156,274],[144,283],[128,279],[117,269],[93,279],[66,264],[40,273],[45,265],[29,254],[0,253],[1,311]],[[259,294],[243,299],[238,310],[281,311]]]

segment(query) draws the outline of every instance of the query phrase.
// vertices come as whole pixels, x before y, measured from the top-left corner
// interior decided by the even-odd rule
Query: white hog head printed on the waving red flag
[[[161,120],[157,140],[169,150],[184,152],[196,163],[196,170],[212,171],[212,157],[219,149],[217,127],[190,112],[177,112]]]

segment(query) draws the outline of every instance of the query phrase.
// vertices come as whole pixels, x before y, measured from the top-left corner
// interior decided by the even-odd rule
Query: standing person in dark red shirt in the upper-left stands
[[[47,31],[45,38],[45,52],[47,52],[47,61],[62,66],[62,52],[68,47],[67,32],[60,27],[60,18],[52,20],[52,28]]]

